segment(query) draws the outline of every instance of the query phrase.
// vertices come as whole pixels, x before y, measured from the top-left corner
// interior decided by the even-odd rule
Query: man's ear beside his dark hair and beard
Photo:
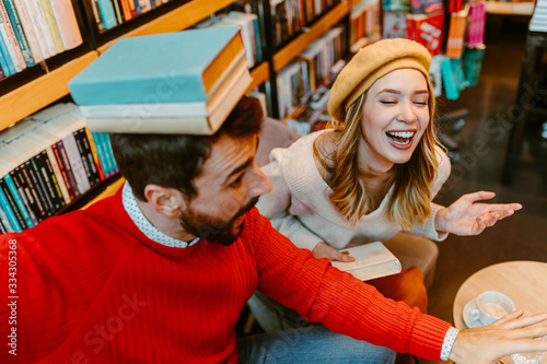
[[[147,185],[144,197],[155,212],[167,218],[178,219],[181,212],[186,208],[183,195],[174,188]]]

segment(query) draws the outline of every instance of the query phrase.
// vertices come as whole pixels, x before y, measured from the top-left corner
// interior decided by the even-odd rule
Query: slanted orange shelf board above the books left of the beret
[[[333,25],[338,23],[346,14],[348,14],[350,3],[342,1],[328,13],[323,15],[315,22],[309,31],[299,35],[294,40],[284,46],[274,56],[274,70],[279,72],[291,60],[300,55],[312,42],[319,38],[323,34],[329,31]]]

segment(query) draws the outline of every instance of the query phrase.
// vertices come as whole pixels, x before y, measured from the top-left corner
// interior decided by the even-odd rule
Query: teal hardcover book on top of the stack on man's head
[[[79,105],[207,101],[242,51],[238,27],[124,38],[68,86]]]

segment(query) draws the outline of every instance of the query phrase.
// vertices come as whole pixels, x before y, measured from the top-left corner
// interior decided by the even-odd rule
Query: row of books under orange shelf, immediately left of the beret
[[[337,26],[313,42],[294,61],[279,71],[276,83],[279,116],[291,117],[322,85],[328,85],[344,67],[345,30]]]

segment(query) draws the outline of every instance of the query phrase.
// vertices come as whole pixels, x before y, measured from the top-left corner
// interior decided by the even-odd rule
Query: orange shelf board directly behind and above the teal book
[[[103,54],[117,40],[126,37],[133,37],[138,35],[149,35],[168,32],[178,32],[185,30],[197,22],[206,19],[207,16],[224,9],[236,0],[191,0],[181,7],[165,13],[144,25],[141,25],[123,36],[108,42],[107,44],[98,47],[98,52]]]

